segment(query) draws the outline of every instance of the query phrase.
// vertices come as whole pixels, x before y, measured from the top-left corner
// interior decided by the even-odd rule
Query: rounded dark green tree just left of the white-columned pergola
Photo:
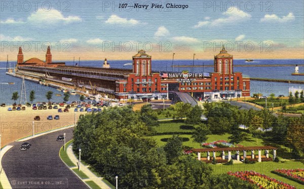
[[[167,144],[164,147],[167,160],[170,164],[175,162],[179,156],[182,155],[182,141],[177,135],[173,135],[168,139]]]

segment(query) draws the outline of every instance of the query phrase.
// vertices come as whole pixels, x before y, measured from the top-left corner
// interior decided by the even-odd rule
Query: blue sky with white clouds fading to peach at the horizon
[[[303,2],[1,1],[0,60],[303,59]]]

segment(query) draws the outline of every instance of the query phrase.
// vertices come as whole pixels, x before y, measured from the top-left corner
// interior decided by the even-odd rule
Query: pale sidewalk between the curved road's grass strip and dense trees
[[[69,145],[67,148],[66,148],[66,154],[67,154],[67,156],[68,156],[68,158],[75,164],[75,165],[78,165],[78,162],[79,162],[79,160],[78,160],[78,158],[74,155],[74,153],[73,153],[73,151],[72,151],[72,144],[71,145]],[[98,176],[96,176],[88,167],[89,166],[86,166],[86,165],[84,165],[83,163],[80,163],[81,165],[80,165],[80,170],[82,171],[82,172],[84,172],[89,178],[85,178],[85,179],[82,179],[81,178],[81,180],[83,181],[83,182],[87,182],[87,181],[90,181],[90,180],[92,180],[92,181],[94,181],[99,187],[101,187],[101,188],[104,188],[104,189],[106,189],[106,188],[110,188],[105,182],[103,182],[102,181],[102,177],[98,177]],[[75,167],[69,167],[69,169],[71,170],[71,171],[73,171],[72,169],[74,169],[74,168],[78,168],[77,166],[75,166]]]

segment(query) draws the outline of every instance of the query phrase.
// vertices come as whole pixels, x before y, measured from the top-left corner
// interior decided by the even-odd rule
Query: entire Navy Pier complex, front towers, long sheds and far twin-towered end
[[[234,72],[233,56],[222,48],[214,56],[214,72],[154,73],[151,56],[143,50],[134,55],[132,69],[65,66],[52,62],[50,48],[46,61],[31,58],[23,61],[19,48],[14,76],[61,88],[70,88],[89,94],[100,94],[112,99],[163,99],[171,91],[187,92],[193,97],[211,99],[250,96],[250,79]],[[104,64],[103,64],[104,65]]]

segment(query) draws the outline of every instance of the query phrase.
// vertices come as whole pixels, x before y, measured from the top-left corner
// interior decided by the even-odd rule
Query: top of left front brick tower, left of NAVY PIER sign
[[[151,56],[140,50],[133,56],[133,73],[139,76],[151,75]]]

